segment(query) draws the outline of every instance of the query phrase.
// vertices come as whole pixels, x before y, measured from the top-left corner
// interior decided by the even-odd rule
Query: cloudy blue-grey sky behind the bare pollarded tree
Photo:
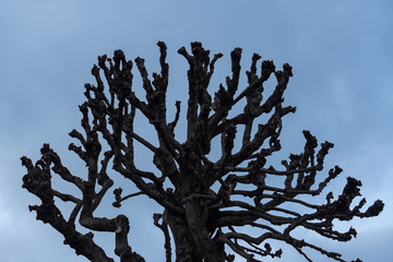
[[[285,104],[296,106],[297,112],[284,119],[285,148],[279,157],[299,153],[305,143],[301,130],[310,130],[319,142],[335,144],[325,166],[340,165],[344,172],[330,186],[332,191],[340,192],[346,177],[352,176],[362,181],[361,192],[369,204],[377,199],[385,203],[380,216],[343,225],[358,231],[350,242],[331,242],[307,231],[305,235],[343,253],[348,261],[357,257],[365,262],[391,261],[392,12],[393,2],[389,0],[2,0],[0,261],[87,261],[76,257],[62,245],[60,234],[28,212],[29,204],[39,202],[21,187],[26,170],[20,157],[37,160],[43,143],[50,143],[63,164],[83,177],[84,166],[67,150],[73,142],[68,133],[80,127],[78,105],[83,103],[84,83],[94,84],[92,66],[97,56],[111,56],[114,50],[122,49],[128,59],[140,56],[150,72],[157,71],[158,40],[168,46],[168,108],[177,99],[186,105],[187,62],[177,50],[182,46],[189,49],[191,41],[202,41],[212,53],[224,53],[216,63],[212,91],[230,73],[229,53],[235,47],[243,49],[242,81],[253,52],[274,60],[276,68],[291,64],[294,78]],[[135,71],[134,79],[134,88],[141,88]],[[141,123],[142,130],[144,127]],[[143,132],[151,131],[146,127]],[[148,168],[152,164],[144,154],[141,150],[141,165]],[[60,180],[53,187],[73,190]],[[110,200],[107,202],[110,205]],[[163,236],[152,219],[159,207],[142,196],[124,203],[120,212],[130,217],[132,248],[147,262],[163,261]],[[96,239],[111,254],[114,235],[97,234]],[[289,248],[277,261],[302,261]],[[318,254],[313,258],[330,261]]]

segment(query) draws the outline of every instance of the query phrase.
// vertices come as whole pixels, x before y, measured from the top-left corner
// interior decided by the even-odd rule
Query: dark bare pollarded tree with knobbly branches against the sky
[[[93,233],[78,230],[76,218],[79,226],[88,230],[114,233],[115,253],[121,262],[144,261],[128,243],[130,224],[126,214],[111,218],[94,214],[104,195],[114,187],[107,172],[111,166],[139,189],[123,196],[122,189],[116,188],[114,206],[121,207],[122,201],[144,194],[163,207],[162,214],[153,215],[153,223],[164,233],[167,262],[172,259],[171,238],[177,262],[234,261],[235,254],[248,262],[261,261],[267,255],[281,257],[282,250],[273,250],[270,240],[291,246],[307,261],[312,261],[308,254],[310,250],[332,260],[345,261],[340,253],[299,238],[295,230],[306,228],[329,239],[348,241],[356,237],[356,230],[337,231],[334,223],[356,216],[377,216],[383,203],[378,200],[361,211],[366,200],[354,203],[360,195],[361,183],[350,177],[340,195],[334,198],[329,192],[325,199],[322,195],[323,201],[312,203],[318,202],[313,196],[321,195],[342,169],[335,166],[327,176],[318,175],[333,144],[324,142],[319,146],[309,131],[302,132],[306,139],[302,153],[290,154],[282,162],[282,167],[266,167],[266,158],[282,148],[278,138],[283,117],[296,109],[283,105],[283,94],[293,76],[291,67],[285,63],[282,71],[276,71],[273,61],[263,61],[258,73],[257,64],[261,57],[254,53],[250,70],[246,72],[248,85],[238,91],[241,49],[235,48],[230,52],[231,75],[226,78],[226,86],[221,84],[212,97],[207,87],[215,62],[223,55],[214,55],[211,59],[210,51],[196,41],[191,44],[191,53],[184,47],[180,48],[178,53],[189,64],[189,96],[187,139],[179,142],[175,128],[180,116],[180,102],[175,105],[175,120],[168,122],[167,48],[163,41],[157,46],[160,73],[153,73],[153,81],[144,60],[134,60],[145,100],[132,90],[133,62],[126,60],[121,50],[116,50],[114,58],[98,57],[98,66],[93,67],[92,74],[97,83],[85,84],[86,100],[80,106],[82,131],[70,132],[79,145],[71,143],[69,146],[86,164],[86,179],[72,175],[49,144],[44,144],[41,158],[36,164],[22,157],[22,165],[27,168],[23,188],[41,201],[40,205],[29,206],[36,212],[37,219],[50,224],[63,235],[64,243],[90,261],[114,259],[95,243]],[[264,83],[272,75],[277,84],[270,96],[263,97]],[[245,104],[243,111],[236,112],[233,108],[240,102]],[[135,112],[154,127],[157,144],[143,138],[143,130],[135,130]],[[257,124],[261,116],[266,116],[267,120]],[[240,134],[238,127],[243,130]],[[210,153],[215,138],[218,138],[218,151],[221,150],[221,154],[213,160]],[[156,172],[135,165],[134,159],[139,157],[134,152],[135,142],[152,152]],[[82,196],[55,190],[51,183],[53,174],[76,186]],[[282,183],[278,187],[272,181]],[[74,203],[68,219],[55,199]]]

